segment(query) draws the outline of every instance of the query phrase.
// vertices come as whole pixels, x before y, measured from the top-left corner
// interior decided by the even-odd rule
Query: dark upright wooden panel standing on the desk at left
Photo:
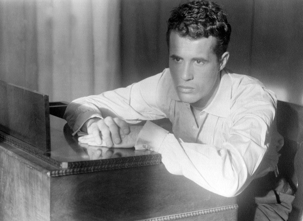
[[[0,130],[50,151],[48,96],[0,81]]]

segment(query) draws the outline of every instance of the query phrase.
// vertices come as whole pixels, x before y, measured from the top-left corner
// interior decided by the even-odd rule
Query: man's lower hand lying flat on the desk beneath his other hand
[[[121,143],[113,145],[113,147],[118,147],[118,148],[129,148],[129,147],[134,147],[138,134],[140,130],[142,129],[142,126],[130,126],[130,133],[125,135],[120,135],[121,136]],[[107,142],[105,141],[103,135],[100,132],[100,137],[101,137],[101,143],[98,143],[95,140],[95,135],[94,134],[88,134],[85,136],[81,136],[78,138],[78,141],[80,143],[86,143],[89,146],[99,146],[99,147],[106,147]]]

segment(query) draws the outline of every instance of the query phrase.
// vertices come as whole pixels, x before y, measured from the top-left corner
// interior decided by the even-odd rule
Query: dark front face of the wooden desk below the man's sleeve
[[[55,220],[140,220],[218,207],[200,220],[233,220],[237,211],[226,207],[236,204],[233,198],[172,175],[163,164],[54,178],[51,193]]]

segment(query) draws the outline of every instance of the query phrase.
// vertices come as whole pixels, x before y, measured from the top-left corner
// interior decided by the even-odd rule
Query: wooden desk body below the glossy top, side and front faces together
[[[51,117],[51,127],[55,129],[52,119],[57,118]],[[58,132],[61,126],[56,125]],[[62,131],[61,136],[64,137]],[[169,220],[176,217],[236,220],[237,217],[235,198],[219,196],[184,176],[172,175],[162,163],[96,172],[94,167],[87,167],[74,174],[54,174],[54,171],[68,169],[0,142],[1,220]]]

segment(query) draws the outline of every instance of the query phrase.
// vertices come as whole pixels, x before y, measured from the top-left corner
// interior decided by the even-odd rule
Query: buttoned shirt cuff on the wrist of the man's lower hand
[[[146,121],[145,125],[142,127],[138,134],[135,143],[135,149],[148,149],[158,152],[167,134],[167,130],[150,121]]]

